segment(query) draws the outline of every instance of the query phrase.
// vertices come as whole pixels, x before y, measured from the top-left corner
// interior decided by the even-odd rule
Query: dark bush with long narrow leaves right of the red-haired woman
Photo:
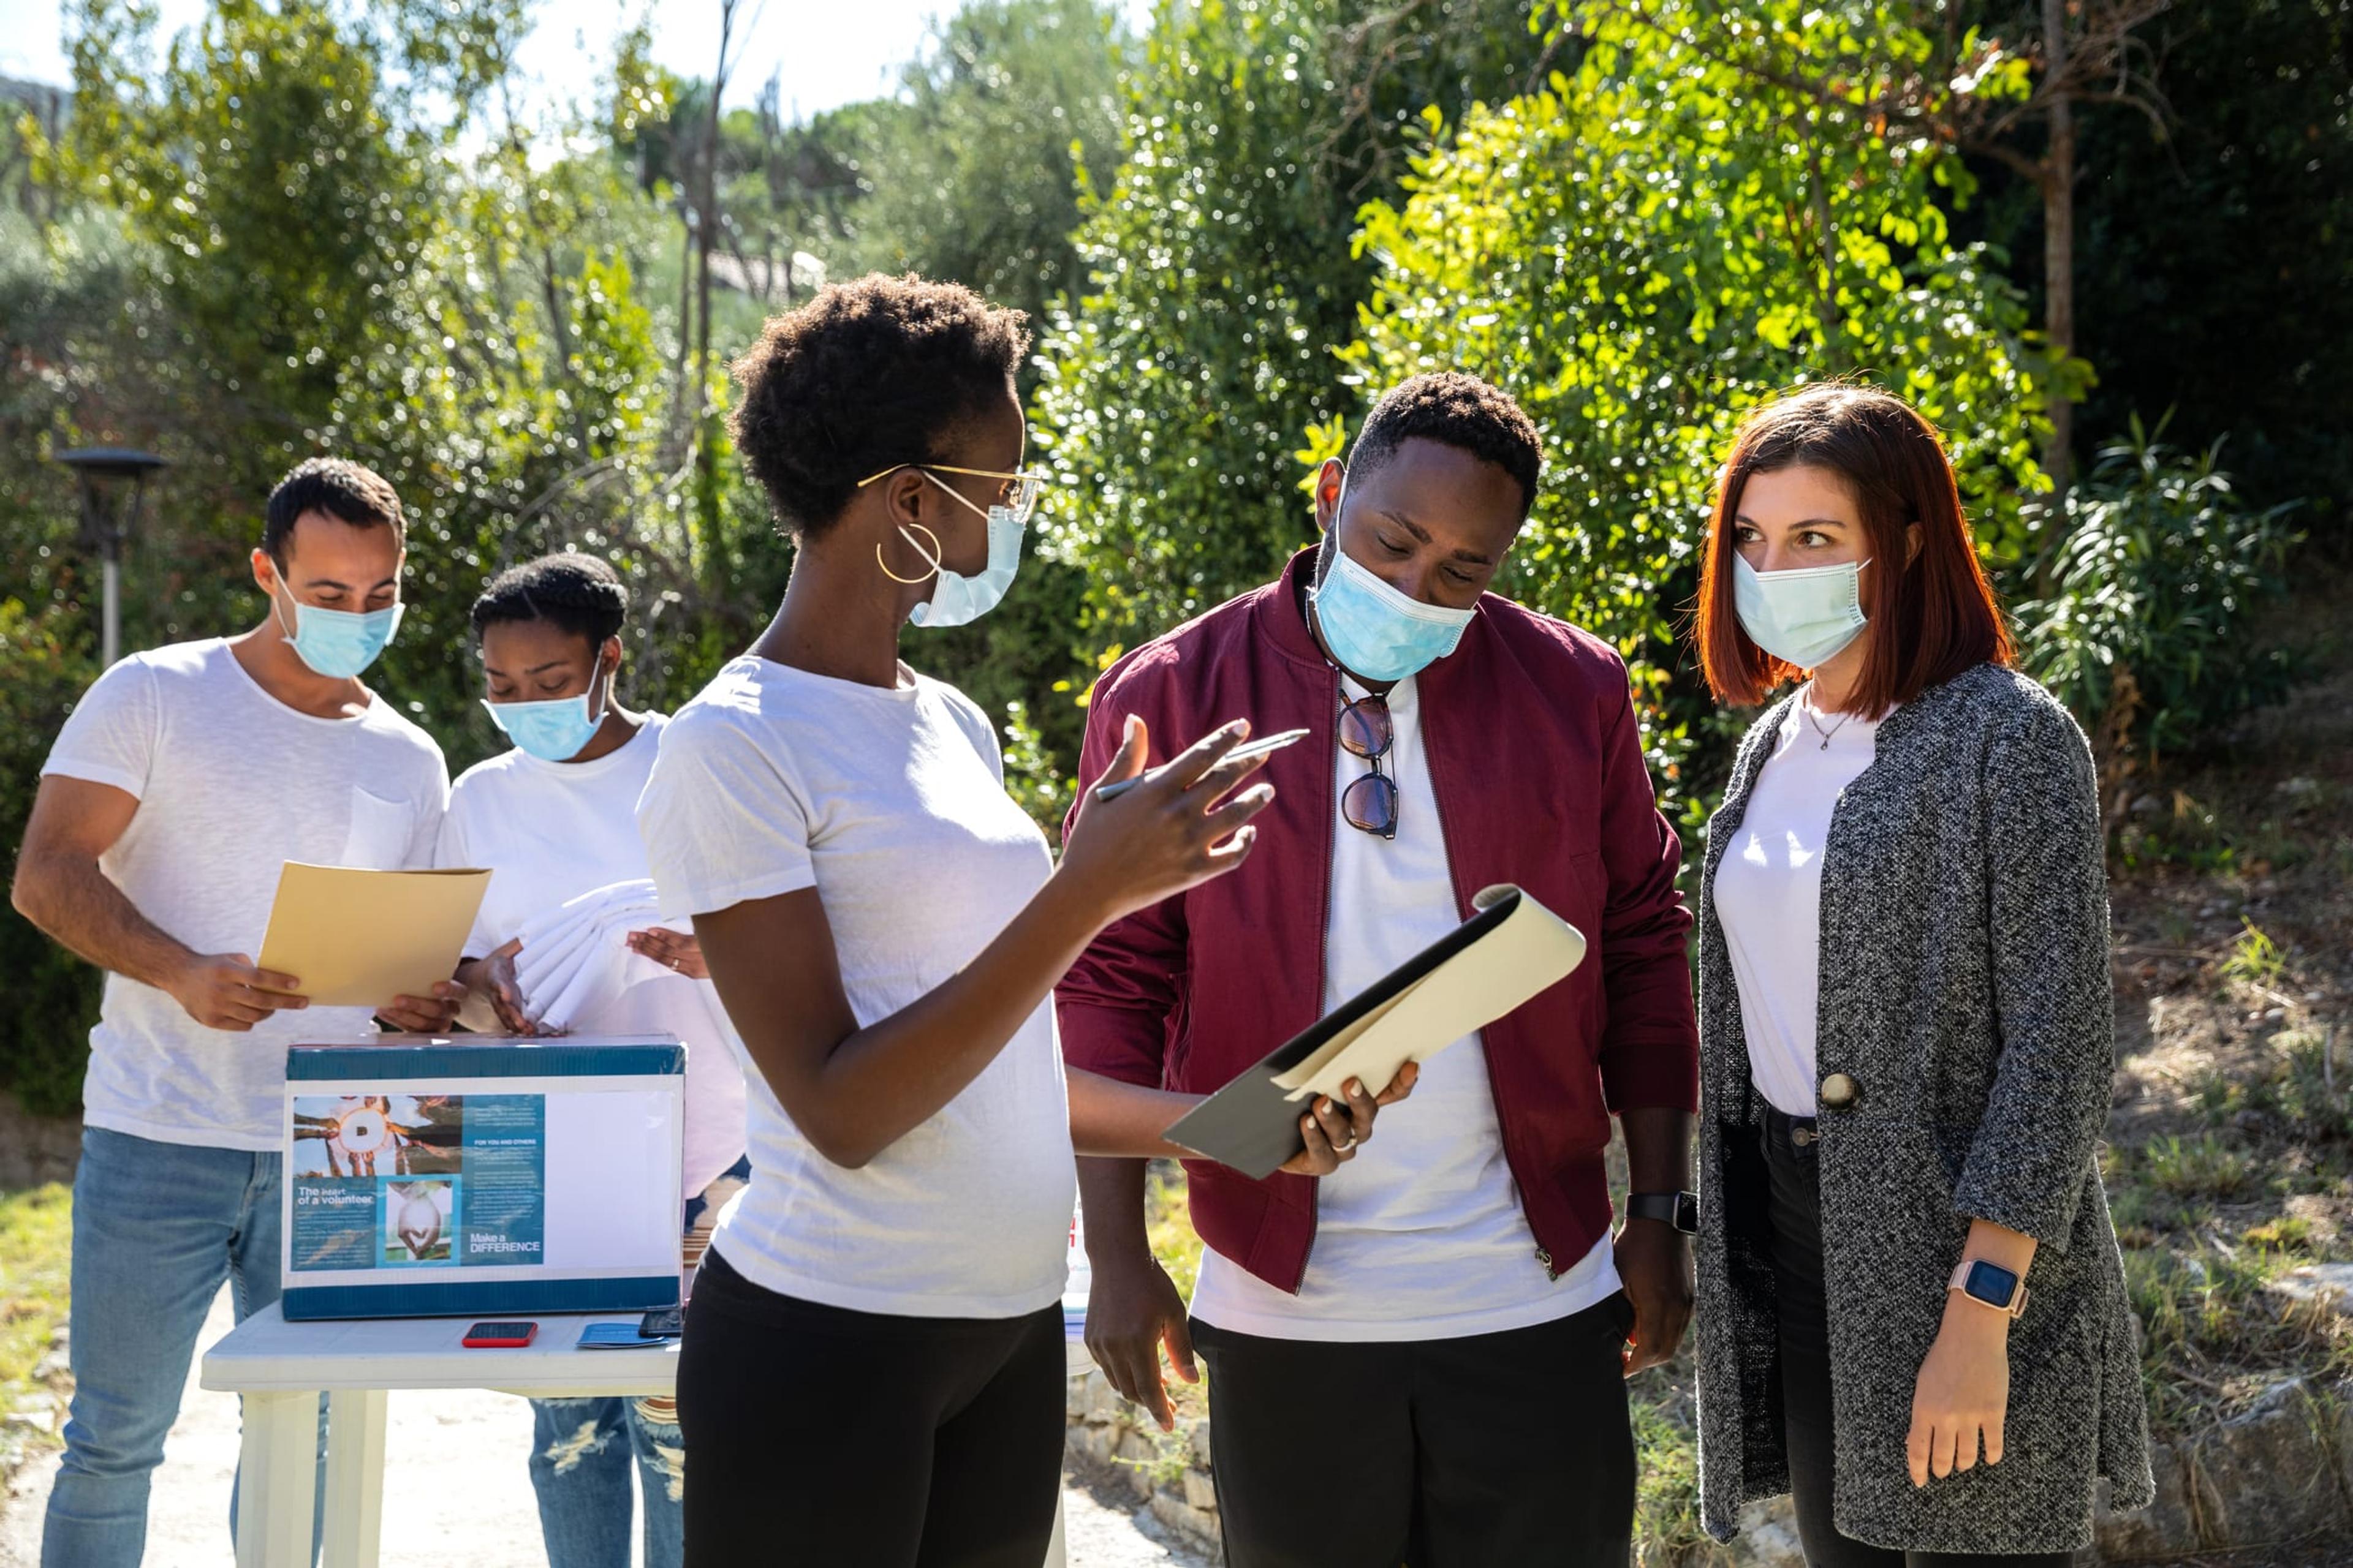
[[[2217,449],[2160,444],[2139,416],[2054,508],[2017,604],[2028,672],[2094,733],[2108,788],[2271,701],[2285,658],[2252,632],[2285,583],[2294,503],[2249,510]],[[2118,804],[2111,797],[2111,806]]]

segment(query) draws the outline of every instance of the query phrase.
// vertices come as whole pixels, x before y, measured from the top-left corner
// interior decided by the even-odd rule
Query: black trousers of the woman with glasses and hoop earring
[[[1061,1497],[1061,1307],[847,1312],[711,1253],[678,1422],[689,1566],[1038,1568]]]

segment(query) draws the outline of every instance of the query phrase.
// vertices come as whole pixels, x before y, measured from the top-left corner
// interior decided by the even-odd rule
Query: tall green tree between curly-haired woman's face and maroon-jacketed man
[[[1085,574],[1087,661],[1313,534],[1294,451],[1351,400],[1332,350],[1372,284],[1353,214],[1393,190],[1424,103],[1499,92],[1537,56],[1518,2],[1160,7],[1120,174],[1082,200],[1087,292],[1052,315],[1033,400],[1061,480],[1040,543]]]

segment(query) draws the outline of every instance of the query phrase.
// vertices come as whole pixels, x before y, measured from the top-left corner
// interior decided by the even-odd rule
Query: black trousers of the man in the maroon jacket
[[[1228,1568],[1626,1568],[1633,1307],[1464,1340],[1193,1324]]]

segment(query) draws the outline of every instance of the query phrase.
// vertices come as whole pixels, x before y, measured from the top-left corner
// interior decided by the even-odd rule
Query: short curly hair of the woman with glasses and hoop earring
[[[868,273],[769,317],[734,362],[744,465],[795,538],[828,529],[859,480],[941,458],[944,437],[1005,397],[1028,317],[960,282]]]

